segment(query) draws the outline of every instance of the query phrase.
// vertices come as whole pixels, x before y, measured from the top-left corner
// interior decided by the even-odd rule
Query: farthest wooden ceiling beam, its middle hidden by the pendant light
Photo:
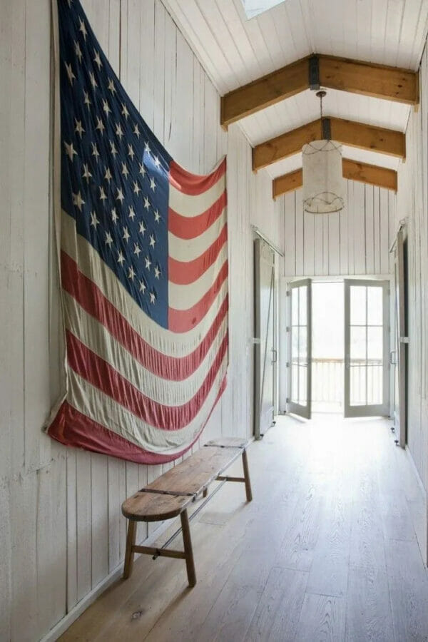
[[[348,158],[342,159],[343,178],[358,180],[360,183],[368,183],[377,187],[387,188],[397,192],[397,172],[379,165],[358,163]],[[272,196],[277,198],[287,192],[292,192],[302,187],[303,173],[301,169],[274,178],[272,181]]]

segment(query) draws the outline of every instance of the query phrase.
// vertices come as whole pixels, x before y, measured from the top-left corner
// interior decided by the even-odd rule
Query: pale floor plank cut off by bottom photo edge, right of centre
[[[344,598],[306,593],[295,642],[342,642],[345,609]]]

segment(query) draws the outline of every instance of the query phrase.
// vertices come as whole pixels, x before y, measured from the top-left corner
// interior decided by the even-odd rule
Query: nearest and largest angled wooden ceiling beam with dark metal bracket
[[[221,124],[227,127],[305,91],[310,84],[312,88],[340,89],[408,105],[419,103],[419,76],[414,71],[335,56],[308,56],[223,96]]]

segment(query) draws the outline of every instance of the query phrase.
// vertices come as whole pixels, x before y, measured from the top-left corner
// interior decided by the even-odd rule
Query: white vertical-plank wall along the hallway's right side
[[[428,53],[420,68],[421,103],[407,127],[407,162],[399,170],[397,226],[406,219],[409,258],[409,399],[407,442],[428,489]],[[426,551],[424,551],[424,554]]]

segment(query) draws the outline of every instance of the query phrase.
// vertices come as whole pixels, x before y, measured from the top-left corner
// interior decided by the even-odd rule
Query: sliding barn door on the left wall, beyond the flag
[[[275,254],[260,238],[254,241],[255,412],[254,435],[260,439],[274,416]]]

